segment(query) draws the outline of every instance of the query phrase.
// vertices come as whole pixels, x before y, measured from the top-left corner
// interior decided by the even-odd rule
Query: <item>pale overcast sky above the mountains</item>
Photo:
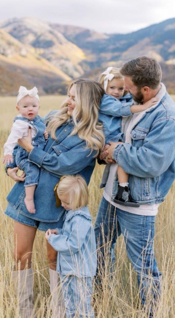
[[[35,17],[103,33],[128,33],[175,17],[174,0],[5,0],[0,20]]]

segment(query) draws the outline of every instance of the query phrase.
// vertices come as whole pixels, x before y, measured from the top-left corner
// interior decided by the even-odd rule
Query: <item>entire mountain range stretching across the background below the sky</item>
[[[0,27],[0,67],[5,77],[1,93],[7,92],[3,87],[5,83],[8,87],[8,81],[9,93],[15,93],[12,87],[19,81],[35,82],[43,93],[65,93],[65,82],[72,78],[97,79],[108,66],[120,67],[141,55],[160,62],[163,82],[175,93],[175,18],[127,34],[104,34],[27,17],[1,22]]]

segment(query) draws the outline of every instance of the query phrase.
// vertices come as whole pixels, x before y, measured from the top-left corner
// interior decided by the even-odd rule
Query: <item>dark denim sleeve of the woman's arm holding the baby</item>
[[[96,151],[86,149],[86,143],[76,145],[72,149],[60,153],[48,154],[42,149],[34,147],[30,153],[28,160],[35,163],[39,168],[43,167],[47,171],[56,175],[76,174],[92,163]]]

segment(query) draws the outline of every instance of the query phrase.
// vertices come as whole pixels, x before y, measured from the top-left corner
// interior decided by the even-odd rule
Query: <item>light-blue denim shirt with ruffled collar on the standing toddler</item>
[[[62,275],[92,277],[97,255],[92,217],[87,207],[68,211],[62,229],[49,235],[49,244],[58,251],[56,271]]]

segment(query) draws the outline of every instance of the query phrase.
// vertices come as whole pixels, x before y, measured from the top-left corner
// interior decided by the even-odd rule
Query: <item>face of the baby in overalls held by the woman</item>
[[[40,105],[36,97],[24,96],[16,106],[17,111],[27,119],[34,119],[38,115]]]

